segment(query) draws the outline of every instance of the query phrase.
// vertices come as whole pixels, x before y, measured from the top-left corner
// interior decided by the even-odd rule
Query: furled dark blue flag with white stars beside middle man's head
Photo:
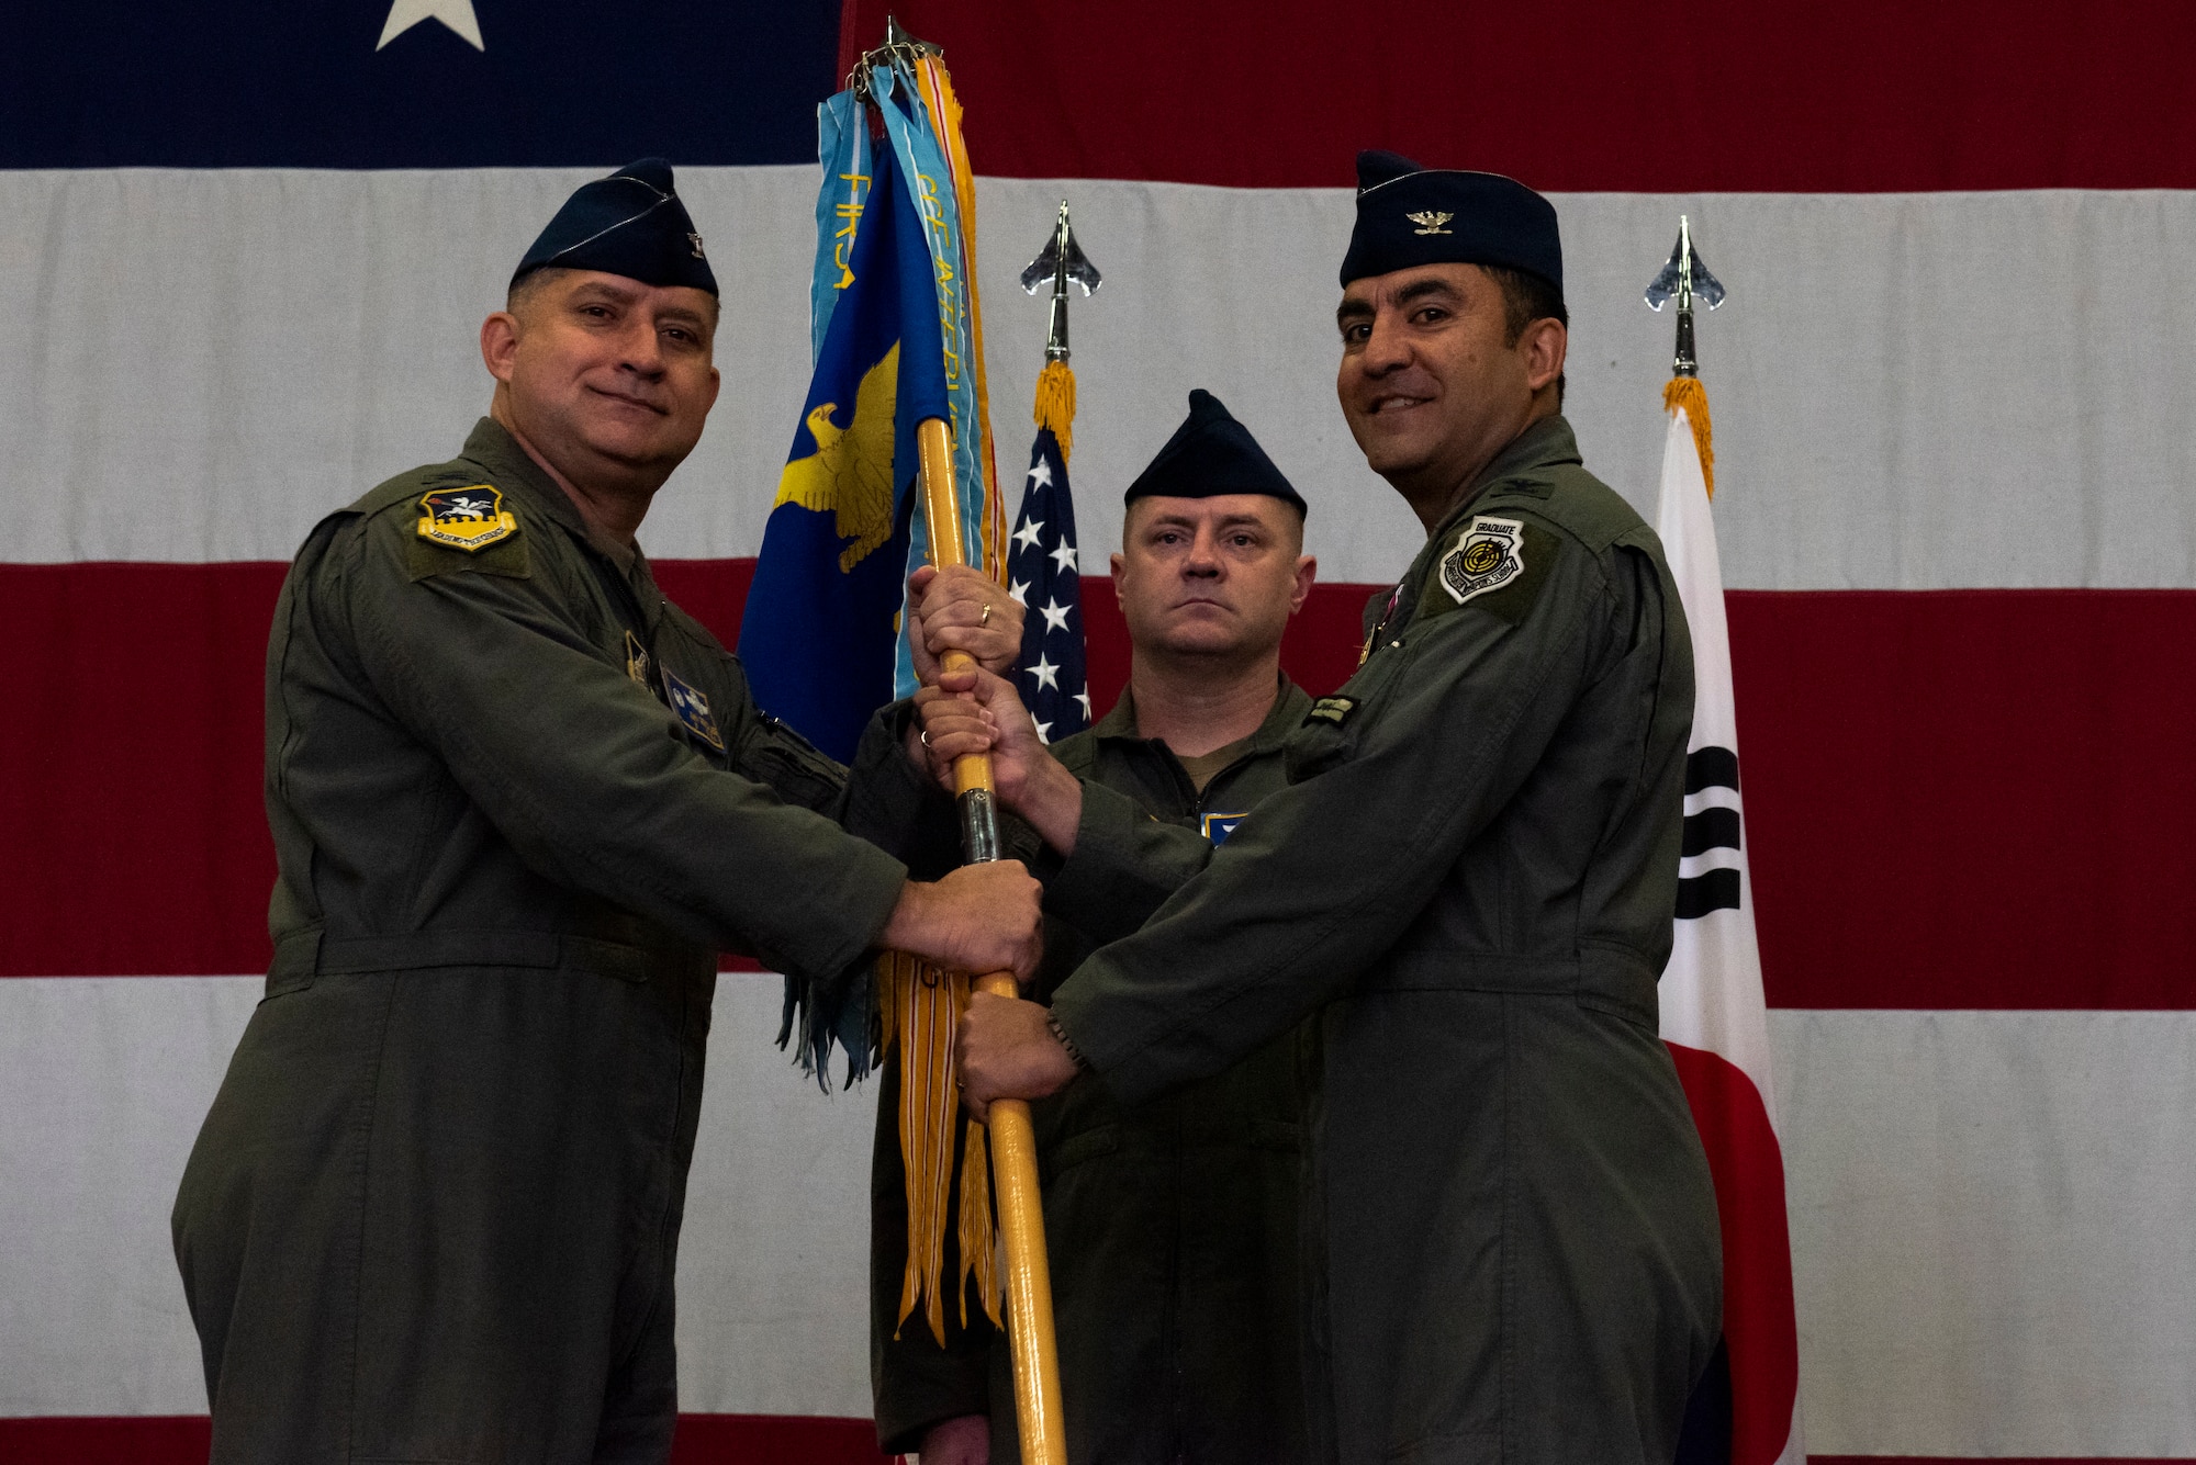
[[[1006,588],[1021,621],[1021,693],[1047,743],[1091,726],[1083,656],[1083,575],[1076,566],[1076,502],[1067,491],[1067,458],[1052,428],[1037,430],[1021,513],[1006,546]]]

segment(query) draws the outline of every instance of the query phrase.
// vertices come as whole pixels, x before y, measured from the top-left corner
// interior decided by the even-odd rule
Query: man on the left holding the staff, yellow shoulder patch
[[[463,452],[283,583],[274,965],[173,1215],[217,1463],[668,1458],[716,952],[1034,967],[1021,866],[909,882],[848,831],[914,829],[905,752],[850,787],[654,586],[716,320],[670,164],[582,186],[481,327]],[[933,649],[1010,665],[968,603],[1004,592],[925,583]]]

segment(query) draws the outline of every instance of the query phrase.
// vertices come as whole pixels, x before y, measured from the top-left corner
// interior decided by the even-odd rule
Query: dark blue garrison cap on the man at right
[[[1357,154],[1357,228],[1342,257],[1342,283],[1412,265],[1524,270],[1564,294],[1555,204],[1502,173],[1421,169],[1397,154]]]

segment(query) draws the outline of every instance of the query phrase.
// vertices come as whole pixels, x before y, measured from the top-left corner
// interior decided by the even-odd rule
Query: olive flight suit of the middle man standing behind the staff
[[[1201,794],[1166,743],[1138,737],[1129,695],[1054,754],[1144,818],[1197,838],[1210,822],[1225,838],[1287,783],[1282,743],[1309,706],[1282,680],[1265,724]],[[1032,996],[1045,1000],[1100,941],[1135,928],[1098,919],[1107,923],[1047,917]],[[1072,1465],[1304,1456],[1296,1333],[1309,1042],[1309,1029],[1282,1033],[1225,1072],[1133,1108],[1091,1077],[1030,1105]],[[975,1307],[968,1329],[946,1307],[944,1349],[920,1309],[898,1322],[907,1200],[894,1059],[881,1090],[870,1233],[878,1443],[916,1450],[942,1419],[990,1415],[990,1458],[1008,1465],[1021,1450],[1006,1338]],[[951,1279],[951,1237],[946,1250]]]

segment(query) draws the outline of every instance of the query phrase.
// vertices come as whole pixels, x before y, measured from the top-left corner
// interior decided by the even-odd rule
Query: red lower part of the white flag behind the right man
[[[1730,1465],[1774,1465],[1792,1439],[1799,1325],[1783,1151],[1755,1081],[1715,1053],[1665,1044],[1715,1176],[1724,1226],[1724,1351],[1730,1358]]]

